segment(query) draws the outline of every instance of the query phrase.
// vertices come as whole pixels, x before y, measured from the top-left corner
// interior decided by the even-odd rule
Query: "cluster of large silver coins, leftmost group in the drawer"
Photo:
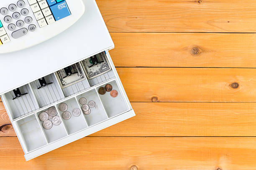
[[[46,130],[51,129],[52,125],[59,125],[61,123],[55,107],[50,107],[45,112],[41,112],[38,117],[43,122],[43,127]]]

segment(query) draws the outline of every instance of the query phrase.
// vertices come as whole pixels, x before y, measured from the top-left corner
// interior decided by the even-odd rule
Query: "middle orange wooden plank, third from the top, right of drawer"
[[[256,102],[256,70],[117,68],[131,102]],[[231,84],[237,82],[238,88]]]

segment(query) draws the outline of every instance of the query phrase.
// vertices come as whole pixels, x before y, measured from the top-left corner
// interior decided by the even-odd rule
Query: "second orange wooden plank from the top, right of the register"
[[[113,32],[111,37],[116,67],[256,67],[255,34]],[[192,54],[194,47],[199,54]]]

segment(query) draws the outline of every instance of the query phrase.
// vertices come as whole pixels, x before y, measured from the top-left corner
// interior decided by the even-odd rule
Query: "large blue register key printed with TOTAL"
[[[50,9],[56,21],[71,15],[65,0],[50,6]]]

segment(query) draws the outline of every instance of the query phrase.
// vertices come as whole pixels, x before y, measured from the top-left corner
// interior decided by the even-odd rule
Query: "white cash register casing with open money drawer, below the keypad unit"
[[[1,99],[26,160],[135,115],[109,55],[114,44],[97,4],[84,4],[87,12],[60,35],[0,56]],[[110,69],[90,76],[88,62],[102,56]],[[106,85],[112,88],[104,91]]]

